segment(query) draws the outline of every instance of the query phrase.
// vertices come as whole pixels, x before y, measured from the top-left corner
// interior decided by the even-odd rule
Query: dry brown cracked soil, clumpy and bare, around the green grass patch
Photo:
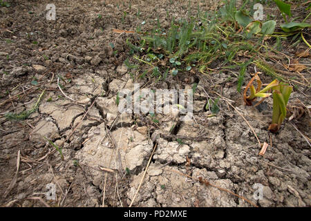
[[[199,3],[202,10],[218,7],[217,1],[191,2],[193,8]],[[228,81],[232,73],[209,77],[182,73],[156,84],[139,80],[154,89],[192,88],[197,83],[195,121],[156,114],[156,123],[150,115],[118,115],[118,91],[133,90],[123,64],[129,52],[126,39],[139,36],[120,35],[112,28],[134,30],[146,21],[142,30],[148,31],[157,17],[168,28],[167,10],[171,17],[183,17],[187,1],[131,1],[131,9],[128,1],[119,6],[104,1],[55,1],[55,21],[44,18],[47,3],[13,1],[10,8],[0,8],[1,28],[11,27],[0,32],[0,70],[9,73],[1,78],[1,93],[10,90],[11,97],[16,95],[10,102],[6,102],[8,97],[0,99],[1,113],[12,108],[16,113],[29,110],[41,94],[37,89],[46,89],[38,110],[28,119],[8,121],[1,115],[2,206],[44,206],[33,196],[50,206],[102,206],[103,191],[104,206],[129,206],[155,144],[133,206],[251,206],[214,186],[200,184],[197,177],[258,206],[310,206],[310,146],[290,123],[283,124],[278,134],[268,133],[272,100],[267,99],[263,109],[243,105],[241,95],[236,95],[236,78]],[[138,8],[141,17],[136,16]],[[122,19],[124,10],[127,15]],[[64,78],[64,93],[76,102],[60,92],[59,75]],[[245,82],[250,79],[245,78]],[[39,85],[30,90],[33,79]],[[214,117],[203,108],[206,92],[212,90],[234,100],[261,142],[272,140],[264,157],[258,155],[260,147],[249,126],[225,101],[220,100],[220,112]],[[296,90],[291,96],[310,102]],[[308,119],[295,123],[310,137]],[[44,137],[62,147],[64,160]],[[19,171],[12,183],[18,153]],[[55,184],[55,200],[46,198],[50,183]],[[263,198],[254,198],[254,184],[263,186]]]

